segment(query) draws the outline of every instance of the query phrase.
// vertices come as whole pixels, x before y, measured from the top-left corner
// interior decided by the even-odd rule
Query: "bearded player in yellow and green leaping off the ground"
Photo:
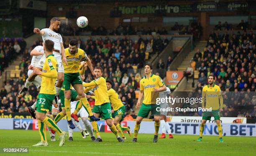
[[[86,108],[86,111],[89,114],[91,121],[99,121],[100,118],[96,118],[92,114],[91,107],[87,101],[87,98],[84,95],[84,87],[82,85],[82,80],[80,78],[79,73],[79,65],[81,61],[86,61],[88,68],[91,70],[92,75],[96,76],[95,72],[92,68],[92,63],[89,58],[87,58],[86,53],[84,50],[77,48],[77,40],[70,40],[69,41],[69,48],[65,49],[65,56],[67,58],[67,64],[64,64],[64,82],[62,85],[62,89],[64,90],[64,96],[65,96],[65,111],[67,115],[67,121],[69,124],[69,127],[74,129],[75,126],[72,123],[71,120],[71,114],[70,114],[70,99],[71,99],[71,91],[70,91],[70,85],[77,91],[77,94],[80,98],[81,104]],[[81,105],[81,107],[82,107]],[[77,117],[77,112],[74,112],[72,114],[72,117],[79,122]]]

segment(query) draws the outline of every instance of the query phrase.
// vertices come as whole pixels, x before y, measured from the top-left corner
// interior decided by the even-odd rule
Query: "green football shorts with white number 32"
[[[52,101],[55,98],[55,94],[42,94],[39,93],[38,100],[36,101],[36,111],[40,113],[47,113],[51,111]]]

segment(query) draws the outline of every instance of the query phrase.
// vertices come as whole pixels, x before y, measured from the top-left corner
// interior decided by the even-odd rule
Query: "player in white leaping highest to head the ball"
[[[64,53],[64,46],[62,37],[59,33],[56,33],[55,31],[59,30],[60,26],[60,20],[59,18],[51,18],[51,25],[49,28],[44,28],[42,30],[38,28],[34,28],[34,33],[37,33],[38,35],[42,36],[43,41],[44,40],[52,40],[54,42],[54,57],[56,58],[58,62],[58,82],[56,83],[55,89],[56,89],[56,96],[59,94],[59,91],[62,87],[62,83],[64,81],[64,66],[63,63],[67,64],[67,59]],[[61,59],[62,58],[62,59]],[[44,65],[45,57],[42,57],[41,60],[39,60],[39,64],[36,67],[43,66]],[[26,83],[24,85],[24,88],[18,93],[18,97],[21,98],[26,91],[28,90],[29,85],[33,82],[35,79],[36,74],[31,74],[28,79],[26,80]],[[57,103],[57,100],[55,98],[55,102]]]

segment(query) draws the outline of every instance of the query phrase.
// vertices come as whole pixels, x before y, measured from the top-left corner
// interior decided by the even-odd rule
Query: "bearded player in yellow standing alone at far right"
[[[220,111],[223,111],[223,97],[220,87],[214,84],[215,77],[212,75],[208,76],[208,85],[202,88],[202,108],[211,108],[212,111],[203,112],[202,123],[200,125],[200,133],[197,141],[202,141],[202,133],[204,131],[205,123],[207,120],[214,120],[218,127],[219,141],[223,142],[222,128],[220,123]],[[206,104],[205,104],[206,101]]]

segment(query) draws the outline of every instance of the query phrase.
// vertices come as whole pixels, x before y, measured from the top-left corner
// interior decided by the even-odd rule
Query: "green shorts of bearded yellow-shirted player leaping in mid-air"
[[[62,88],[67,91],[70,90],[70,85],[83,84],[80,73],[64,73],[64,81]]]

